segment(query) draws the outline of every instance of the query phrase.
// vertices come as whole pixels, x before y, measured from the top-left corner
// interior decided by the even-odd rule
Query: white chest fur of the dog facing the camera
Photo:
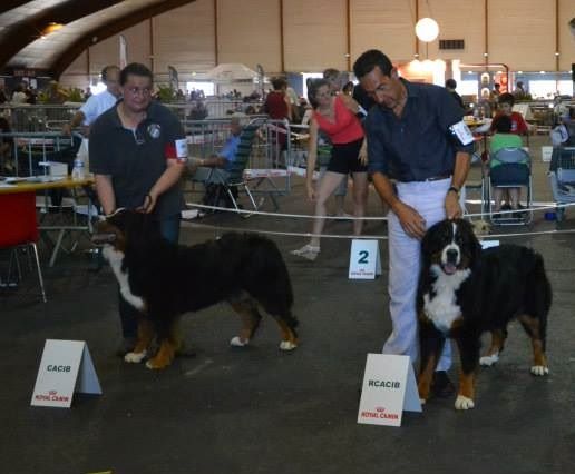
[[[456,302],[456,292],[471,270],[458,270],[454,275],[446,275],[439,267],[433,267],[432,270],[437,275],[437,279],[432,284],[435,295],[433,297],[430,296],[430,293],[423,295],[423,310],[437,329],[448,333],[454,322],[461,315],[461,308]]]

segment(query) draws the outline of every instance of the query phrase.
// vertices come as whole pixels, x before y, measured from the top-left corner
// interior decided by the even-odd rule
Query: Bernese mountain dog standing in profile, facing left
[[[137,343],[125,361],[139,363],[156,338],[159,348],[146,362],[164,368],[181,347],[179,316],[227,300],[243,326],[231,345],[245,346],[262,318],[260,308],[280,326],[280,349],[298,346],[292,315],[292,284],[275,244],[253,234],[224,234],[217,240],[194,246],[163,239],[152,217],[118,209],[98,223],[92,241],[118,279],[120,294],[142,314]]]

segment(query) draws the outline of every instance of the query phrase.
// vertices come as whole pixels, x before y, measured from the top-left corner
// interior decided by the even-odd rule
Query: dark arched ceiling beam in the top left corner
[[[6,0],[2,0],[2,7],[4,1]],[[121,3],[121,0],[68,0],[10,26],[7,33],[1,38],[0,69],[26,46],[36,41],[51,22],[61,24],[70,23],[71,21],[104,10],[116,3]]]

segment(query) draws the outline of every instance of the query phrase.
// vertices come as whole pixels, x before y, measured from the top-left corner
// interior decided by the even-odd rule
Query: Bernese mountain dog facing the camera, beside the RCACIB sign
[[[472,226],[454,219],[429,228],[421,243],[421,258],[418,391],[423,403],[429,398],[446,338],[452,338],[461,362],[455,407],[472,408],[478,365],[489,366],[499,359],[507,324],[514,318],[532,339],[532,374],[549,373],[545,336],[552,288],[540,255],[518,245],[481,250]],[[490,332],[491,345],[479,357],[484,332]]]

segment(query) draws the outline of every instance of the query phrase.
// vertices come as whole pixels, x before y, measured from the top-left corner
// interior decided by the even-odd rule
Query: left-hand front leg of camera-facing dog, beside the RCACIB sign
[[[439,361],[439,355],[445,345],[445,336],[436,329],[433,323],[426,317],[419,320],[419,358],[420,372],[417,388],[419,399],[426,403],[431,393],[431,382]]]

